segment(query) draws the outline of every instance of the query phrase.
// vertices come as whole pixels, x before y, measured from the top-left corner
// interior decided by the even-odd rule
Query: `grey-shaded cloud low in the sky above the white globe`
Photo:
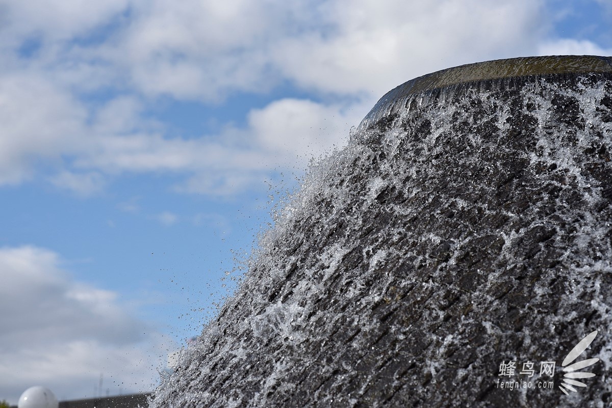
[[[100,374],[112,393],[149,390],[170,341],[117,293],[76,282],[61,263],[40,247],[0,248],[2,398],[17,403],[38,384],[60,399],[92,396]]]

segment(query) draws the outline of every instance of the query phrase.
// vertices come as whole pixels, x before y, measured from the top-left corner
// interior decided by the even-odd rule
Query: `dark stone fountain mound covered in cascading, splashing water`
[[[406,82],[309,170],[151,405],[608,406],[611,159],[612,58]],[[561,387],[595,330],[595,375]]]

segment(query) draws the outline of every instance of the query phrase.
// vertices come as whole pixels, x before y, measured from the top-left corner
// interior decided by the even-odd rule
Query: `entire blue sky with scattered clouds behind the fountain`
[[[309,159],[398,84],[612,55],[604,0],[0,0],[0,16],[10,403],[151,389]]]

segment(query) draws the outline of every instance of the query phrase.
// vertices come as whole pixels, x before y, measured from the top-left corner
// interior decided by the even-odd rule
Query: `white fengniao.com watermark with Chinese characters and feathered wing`
[[[572,392],[578,392],[577,388],[574,387],[587,386],[586,384],[584,384],[584,382],[578,381],[578,379],[583,380],[595,376],[595,374],[593,373],[586,373],[584,371],[578,370],[582,370],[583,368],[594,365],[599,361],[599,359],[586,359],[580,360],[575,363],[574,361],[578,359],[578,357],[580,357],[580,355],[591,345],[593,340],[595,340],[596,336],[597,330],[586,335],[586,337],[580,340],[580,342],[576,344],[572,351],[567,354],[567,356],[561,363],[561,366],[564,367],[563,371],[565,374],[563,376],[563,382],[561,383],[561,385],[559,385],[559,390],[564,392],[565,395],[569,395],[569,393],[567,392],[568,390]],[[520,370],[520,367],[517,366],[517,363],[518,362],[515,361],[502,362],[499,365],[499,377],[508,377],[509,380],[514,377],[517,371]],[[514,390],[517,388],[535,388],[536,386],[537,388],[553,388],[554,382],[552,381],[552,377],[554,376],[554,368],[556,366],[556,362],[540,362],[540,381],[535,384],[531,381],[531,377],[533,377],[536,372],[535,368],[537,368],[537,366],[535,366],[535,368],[534,366],[535,363],[531,360],[524,362],[522,370],[520,370],[517,375],[523,376],[523,378],[524,376],[526,376],[526,380],[521,379],[520,381],[515,381],[512,379],[510,381],[501,381],[501,379],[498,379],[497,388],[509,388],[510,390]],[[549,379],[546,380],[545,377],[549,377]]]

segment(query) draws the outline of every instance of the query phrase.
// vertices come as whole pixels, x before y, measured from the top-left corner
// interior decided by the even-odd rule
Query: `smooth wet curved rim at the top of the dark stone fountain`
[[[461,84],[553,75],[612,74],[612,56],[543,56],[498,59],[446,68],[404,82],[383,95],[359,124],[363,129],[394,111],[398,102],[419,93]]]

